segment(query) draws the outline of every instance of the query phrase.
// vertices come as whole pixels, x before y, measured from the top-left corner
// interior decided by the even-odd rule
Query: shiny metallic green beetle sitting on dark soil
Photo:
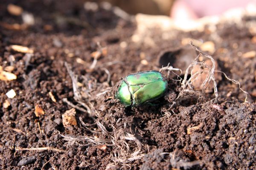
[[[159,71],[142,71],[123,78],[115,97],[125,106],[142,105],[166,94],[168,82]]]

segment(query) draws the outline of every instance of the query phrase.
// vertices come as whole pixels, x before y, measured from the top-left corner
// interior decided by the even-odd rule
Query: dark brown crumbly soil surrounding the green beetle
[[[20,16],[6,10],[9,3],[32,13],[35,25],[23,30],[7,27],[22,24]],[[204,31],[176,31],[175,38],[167,40],[155,30],[154,48],[131,40],[136,29],[131,20],[103,7],[86,11],[79,0],[4,0],[0,21],[0,65],[14,66],[12,73],[17,75],[16,80],[0,81],[1,169],[256,169],[256,57],[241,55],[255,50],[256,33],[246,24],[256,22],[255,17],[244,18],[242,25],[218,24],[213,33],[207,27]],[[191,47],[180,48],[186,37],[214,42],[212,57],[218,70],[241,82],[250,94],[248,102],[243,102],[239,86],[224,76],[217,79],[217,103],[201,105],[186,96],[171,108],[180,91],[180,84],[170,79],[173,75],[168,96],[155,105],[125,108],[113,98],[114,85],[125,75],[159,70],[168,62],[184,71],[197,55]],[[90,54],[102,50],[97,42],[107,54],[90,69]],[[34,54],[13,51],[10,45],[27,46]],[[148,65],[141,64],[142,59]],[[93,105],[89,105],[91,112],[74,99],[65,62],[78,75],[79,93],[90,94],[83,102]],[[11,89],[17,96],[8,99],[5,94]],[[207,101],[210,97],[211,88]],[[75,126],[62,124],[62,114],[72,108],[65,98],[79,106]],[[6,99],[9,108],[3,107]],[[45,114],[36,117],[35,105]],[[190,127],[197,128],[188,134]],[[41,147],[48,149],[18,150]]]

